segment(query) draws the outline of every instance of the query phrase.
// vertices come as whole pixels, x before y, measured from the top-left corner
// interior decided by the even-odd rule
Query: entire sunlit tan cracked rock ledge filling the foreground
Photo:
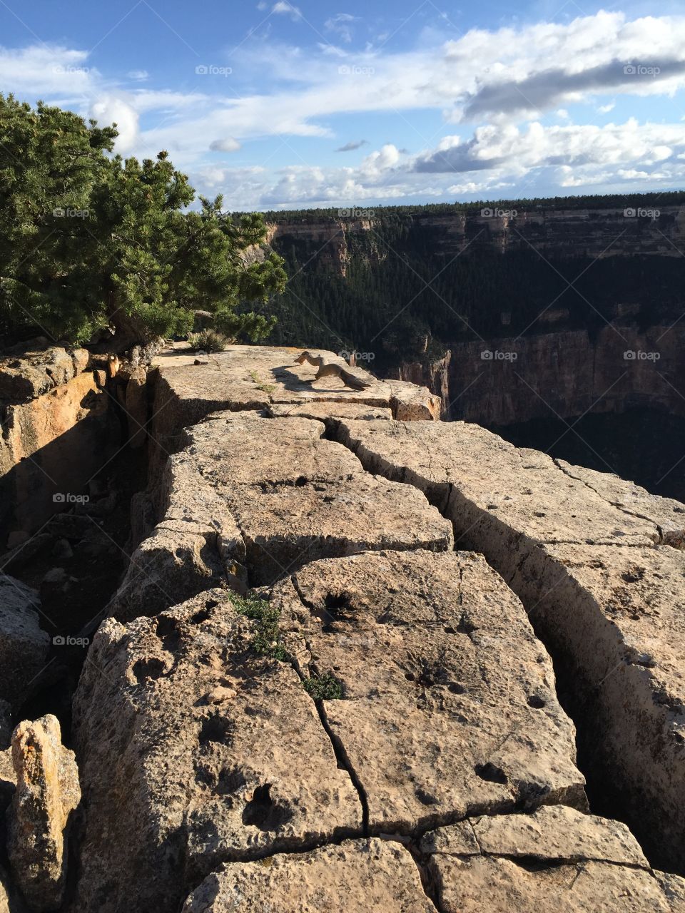
[[[0,750],[0,909],[685,909],[685,507],[296,354],[158,360],[80,786],[47,718],[21,802]]]

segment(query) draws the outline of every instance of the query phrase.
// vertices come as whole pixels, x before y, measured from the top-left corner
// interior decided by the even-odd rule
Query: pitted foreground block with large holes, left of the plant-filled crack
[[[74,701],[77,909],[175,909],[227,860],[362,834],[362,806],[287,662],[223,591],[100,627]]]

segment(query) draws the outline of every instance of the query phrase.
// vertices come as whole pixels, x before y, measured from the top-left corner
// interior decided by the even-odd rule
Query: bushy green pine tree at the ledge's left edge
[[[269,333],[248,310],[285,287],[283,261],[248,263],[261,216],[222,212],[200,197],[166,152],[139,163],[111,155],[116,125],[36,109],[0,94],[0,332],[36,325],[53,339],[88,341],[110,327],[120,347],[216,315],[237,338]]]

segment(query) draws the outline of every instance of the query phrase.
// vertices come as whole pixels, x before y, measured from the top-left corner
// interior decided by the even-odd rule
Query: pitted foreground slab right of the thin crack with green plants
[[[332,677],[322,711],[364,793],[372,833],[498,813],[585,807],[574,726],[522,604],[471,553],[367,553],[317,561],[272,603]],[[288,621],[290,619],[290,621]]]

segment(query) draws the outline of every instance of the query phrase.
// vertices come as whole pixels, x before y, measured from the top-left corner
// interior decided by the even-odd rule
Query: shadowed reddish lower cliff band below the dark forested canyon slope
[[[683,345],[680,326],[612,324],[594,339],[578,330],[457,343],[397,374],[439,395],[448,420],[515,425],[631,408],[683,416]]]

